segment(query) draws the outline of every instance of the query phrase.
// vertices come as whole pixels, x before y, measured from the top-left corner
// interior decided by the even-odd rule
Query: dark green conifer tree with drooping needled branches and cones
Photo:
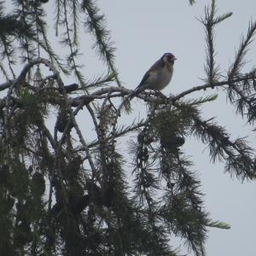
[[[237,115],[254,125],[256,70],[243,73],[241,67],[256,22],[225,72],[215,59],[214,33],[232,14],[218,15],[212,0],[200,19],[207,45],[204,83],[176,96],[141,91],[135,98],[147,104],[148,115],[125,124],[121,117],[136,111],[129,105],[135,98],[129,102],[133,90],[120,82],[105,16],[92,0],[52,0],[56,15],[49,21],[47,2],[13,0],[10,14],[0,2],[0,254],[175,256],[174,235],[195,255],[205,255],[207,229],[229,225],[210,218],[183,144],[196,137],[210,159],[224,162],[225,172],[255,179],[253,148],[244,138],[231,140],[200,109],[222,88]],[[49,38],[48,22],[55,22],[68,55],[57,55],[60,44]],[[106,64],[105,75],[94,80],[80,66],[83,26]],[[209,96],[192,96],[201,90]],[[78,116],[90,119],[86,131]],[[118,146],[121,138],[128,159]]]

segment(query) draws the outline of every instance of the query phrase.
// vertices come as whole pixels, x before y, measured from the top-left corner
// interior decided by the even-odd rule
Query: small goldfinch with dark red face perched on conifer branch
[[[177,58],[172,53],[165,53],[144,74],[135,91],[143,89],[163,90],[172,80],[173,65]]]

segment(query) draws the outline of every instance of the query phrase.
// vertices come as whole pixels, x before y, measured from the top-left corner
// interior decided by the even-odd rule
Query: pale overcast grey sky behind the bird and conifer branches
[[[53,13],[50,2],[49,13]],[[135,88],[143,73],[165,52],[172,52],[177,56],[177,61],[172,83],[163,90],[164,94],[176,94],[203,84],[201,78],[205,77],[205,34],[195,17],[203,16],[205,4],[211,1],[197,0],[193,7],[189,6],[188,0],[100,0],[97,3],[107,17],[107,26],[117,48],[116,66],[126,87]],[[219,15],[230,11],[234,13],[216,29],[217,60],[220,67],[227,71],[230,62],[234,60],[241,35],[247,33],[249,20],[256,19],[256,1],[218,0],[217,4]],[[102,65],[96,54],[89,50],[91,41],[88,36],[84,36],[82,41],[84,75],[93,78],[102,73]],[[256,42],[251,44],[247,61],[249,62],[244,70],[249,71],[253,63],[256,63]],[[188,98],[214,92],[200,91]],[[233,138],[249,135],[255,146],[252,127],[245,125],[245,120],[236,117],[234,109],[227,106],[220,90],[217,102],[208,103],[202,108],[202,113],[207,119],[216,116],[219,124],[232,132]],[[81,119],[80,123],[84,123],[84,120]],[[209,163],[206,146],[194,139],[190,139],[183,150],[194,160],[195,170],[200,173],[202,192],[212,218],[224,221],[232,227],[231,230],[210,230],[207,255],[255,255],[256,183],[241,184],[236,178],[231,179],[228,173],[224,173],[223,165]],[[177,245],[177,241],[175,244]],[[183,253],[186,253],[185,248]]]

